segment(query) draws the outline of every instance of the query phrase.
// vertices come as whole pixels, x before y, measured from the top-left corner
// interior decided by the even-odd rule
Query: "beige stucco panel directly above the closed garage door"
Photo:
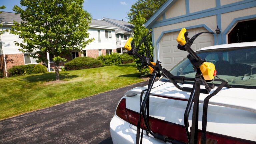
[[[181,22],[181,23],[176,23],[176,24],[171,24],[167,26],[162,26],[162,27],[157,27],[154,28],[154,43],[156,46],[156,41],[160,37],[161,33],[163,31],[168,31],[168,30],[173,30],[173,29],[181,29],[183,27],[188,27],[188,26],[195,26],[195,25],[200,25],[200,24],[205,24],[208,26],[211,30],[215,31],[217,27],[217,17],[215,16],[210,16],[210,17],[205,17],[205,18],[200,18],[200,19],[195,19],[195,20],[190,20],[186,22]]]

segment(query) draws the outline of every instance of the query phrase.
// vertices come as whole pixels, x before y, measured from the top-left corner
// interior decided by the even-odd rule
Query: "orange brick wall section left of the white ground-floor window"
[[[6,54],[5,62],[7,70],[16,65],[24,65],[24,54]]]

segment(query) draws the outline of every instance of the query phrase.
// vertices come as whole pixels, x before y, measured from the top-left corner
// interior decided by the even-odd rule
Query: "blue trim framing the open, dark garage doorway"
[[[222,43],[227,44],[227,33],[233,28],[233,26],[241,20],[246,20],[246,19],[253,19],[256,18],[256,15],[250,15],[250,16],[244,16],[244,17],[239,17],[235,18],[229,25],[228,27],[222,32]]]

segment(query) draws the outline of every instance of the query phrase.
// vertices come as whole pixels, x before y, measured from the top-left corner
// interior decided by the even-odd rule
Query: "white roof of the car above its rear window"
[[[232,43],[232,44],[214,45],[214,46],[209,46],[209,47],[201,48],[198,51],[209,50],[209,49],[232,48],[232,47],[250,47],[250,46],[256,46],[256,42],[244,42],[244,43]]]

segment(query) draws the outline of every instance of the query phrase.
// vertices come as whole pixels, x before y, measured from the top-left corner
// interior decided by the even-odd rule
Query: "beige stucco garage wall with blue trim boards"
[[[152,28],[154,61],[159,53],[159,41],[170,32],[204,27],[215,32],[217,26],[221,34],[213,34],[214,45],[226,44],[227,35],[239,21],[256,19],[256,1],[254,0],[169,0],[156,15],[146,23]],[[189,37],[193,36],[191,33]]]

